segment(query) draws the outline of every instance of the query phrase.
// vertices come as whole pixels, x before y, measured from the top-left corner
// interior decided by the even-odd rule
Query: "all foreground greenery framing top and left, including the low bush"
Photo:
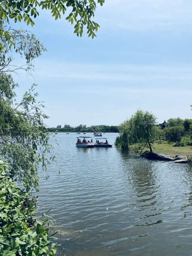
[[[104,0],[98,0],[103,5]],[[0,3],[0,256],[53,255],[56,244],[49,240],[48,218],[36,221],[36,199],[21,190],[17,183],[22,182],[26,191],[38,191],[37,168],[55,159],[53,146],[49,144],[50,133],[43,119],[48,118],[37,100],[35,84],[24,92],[17,102],[11,72],[19,69],[33,74],[33,61],[46,51],[44,45],[25,30],[10,27],[10,19],[24,21],[33,26],[37,9],[48,9],[55,20],[67,11],[66,20],[74,25],[74,33],[82,36],[86,26],[88,37],[96,37],[99,25],[92,21],[96,8],[93,0],[4,0]],[[13,65],[12,51],[25,60],[24,65]],[[15,74],[14,74],[15,75]],[[47,157],[48,156],[48,157]],[[6,159],[8,159],[6,161]],[[46,217],[46,215],[44,215]]]

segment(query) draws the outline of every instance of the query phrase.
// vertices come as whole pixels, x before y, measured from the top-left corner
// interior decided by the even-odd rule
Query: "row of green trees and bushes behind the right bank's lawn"
[[[152,152],[153,143],[157,140],[161,143],[163,139],[173,146],[192,145],[192,119],[170,118],[165,122],[165,128],[161,129],[156,116],[139,109],[119,125],[115,143],[124,150],[134,144],[139,149],[147,146]]]

